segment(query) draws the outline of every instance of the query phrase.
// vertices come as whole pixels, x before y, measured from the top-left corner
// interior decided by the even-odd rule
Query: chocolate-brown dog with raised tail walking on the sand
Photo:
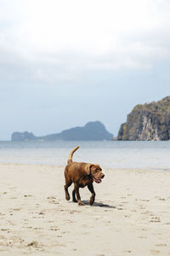
[[[67,161],[67,166],[65,166],[65,199],[70,200],[68,188],[71,186],[71,183],[74,183],[72,201],[78,202],[79,206],[83,206],[84,204],[81,201],[79,188],[84,188],[88,185],[88,189],[92,193],[89,204],[92,206],[95,199],[93,182],[101,183],[101,178],[105,177],[105,174],[102,172],[99,165],[72,162],[72,155],[78,148],[79,146],[71,150],[71,154],[69,155]],[[77,195],[77,199],[75,193]]]

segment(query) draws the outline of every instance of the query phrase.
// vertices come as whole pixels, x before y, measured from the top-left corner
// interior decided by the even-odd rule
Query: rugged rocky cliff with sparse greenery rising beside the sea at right
[[[127,122],[121,125],[116,140],[170,140],[170,96],[134,107],[127,115]]]

